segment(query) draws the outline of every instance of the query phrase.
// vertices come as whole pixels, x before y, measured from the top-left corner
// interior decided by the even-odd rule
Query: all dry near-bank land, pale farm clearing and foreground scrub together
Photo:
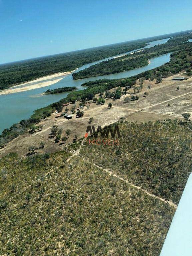
[[[92,103],[71,120],[53,114],[42,131],[1,149],[0,254],[158,256],[191,172],[192,124],[180,115],[190,109],[170,111],[190,97],[191,83],[167,78],[145,90],[144,82],[137,101],[123,103],[127,94]],[[118,123],[119,145],[80,139],[90,117],[93,125]],[[70,128],[67,143],[55,143],[53,124]],[[21,158],[40,141],[43,149]]]

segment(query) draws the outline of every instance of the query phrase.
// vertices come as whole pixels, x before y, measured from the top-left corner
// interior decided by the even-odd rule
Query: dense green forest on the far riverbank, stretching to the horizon
[[[91,49],[51,55],[0,65],[0,90],[46,75],[72,71],[84,64],[142,48],[154,40],[183,35],[185,32],[100,46]]]

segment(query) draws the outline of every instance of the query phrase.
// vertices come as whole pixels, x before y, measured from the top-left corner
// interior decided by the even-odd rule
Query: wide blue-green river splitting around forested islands
[[[144,48],[150,48],[158,44],[164,44],[169,40],[169,38],[153,41],[150,42],[149,45],[147,45]],[[143,48],[142,48],[143,49]],[[140,50],[140,49],[138,49]],[[134,50],[137,51],[137,50]],[[134,52],[131,51],[131,52]],[[131,52],[127,52],[124,54],[112,56],[110,58],[102,59],[99,61],[95,61],[86,65],[83,65],[78,70],[85,69],[87,67],[90,67],[91,65],[100,63],[103,60],[112,59],[117,56],[125,55]],[[47,89],[54,89],[59,87],[67,87],[67,86],[76,86],[78,90],[85,89],[87,87],[82,87],[81,84],[87,81],[94,81],[96,79],[117,79],[117,78],[125,78],[125,77],[131,77],[134,75],[137,75],[143,71],[147,71],[156,67],[159,67],[166,62],[170,61],[170,54],[164,54],[152,59],[149,59],[150,64],[147,66],[144,66],[142,68],[136,68],[133,70],[117,73],[117,74],[110,74],[105,76],[98,76],[98,77],[91,77],[86,79],[80,79],[80,80],[73,80],[72,75],[64,76],[62,80],[59,82],[47,86],[42,87],[38,89],[33,89],[29,91],[24,92],[18,92],[18,93],[11,93],[11,94],[3,94],[0,95],[0,133],[5,129],[9,128],[14,123],[18,123],[22,119],[28,119],[32,114],[33,111],[39,108],[43,108],[45,106],[48,106],[49,104],[52,104],[54,102],[59,101],[60,99],[65,98],[68,93],[58,93],[58,94],[52,94],[52,95],[44,95],[43,92]],[[53,79],[54,80],[54,79]],[[44,80],[46,81],[46,80]],[[44,82],[44,81],[41,81]],[[50,80],[49,80],[50,81]],[[39,83],[39,82],[38,82]],[[33,83],[35,84],[35,83]],[[32,85],[32,84],[30,84]],[[25,85],[26,86],[26,85]]]

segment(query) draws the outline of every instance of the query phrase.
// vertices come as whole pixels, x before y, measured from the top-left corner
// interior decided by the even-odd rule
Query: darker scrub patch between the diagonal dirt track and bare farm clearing
[[[180,124],[170,119],[119,124],[118,146],[85,144],[81,153],[89,161],[178,204],[191,173],[191,129],[189,121]]]

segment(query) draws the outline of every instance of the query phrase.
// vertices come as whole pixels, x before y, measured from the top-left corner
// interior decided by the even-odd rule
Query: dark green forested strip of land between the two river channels
[[[143,49],[143,51],[135,52],[134,54],[129,54],[119,58],[102,61],[98,64],[90,66],[89,68],[80,70],[79,72],[74,72],[72,74],[73,79],[82,79],[98,75],[114,74],[145,66],[147,65],[147,58],[153,58],[168,52],[175,52],[185,48],[186,45],[190,44],[187,43],[187,41],[191,37],[192,36],[190,34],[178,36],[169,39],[167,43],[162,45],[156,45],[151,48],[145,48]],[[138,56],[142,57],[139,58]]]

